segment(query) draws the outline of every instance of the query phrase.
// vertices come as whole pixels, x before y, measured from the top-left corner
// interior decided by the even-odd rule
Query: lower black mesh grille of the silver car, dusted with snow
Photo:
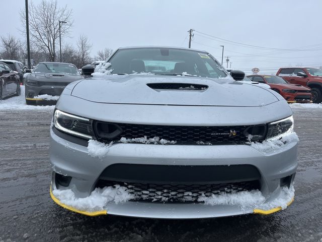
[[[122,183],[119,181],[101,179],[98,181],[96,187],[116,187],[118,185],[125,187],[126,192],[134,196],[130,201],[154,203],[198,203],[200,197],[211,197],[212,195],[219,195],[222,193],[233,194],[260,190],[259,180],[225,184],[160,185]]]

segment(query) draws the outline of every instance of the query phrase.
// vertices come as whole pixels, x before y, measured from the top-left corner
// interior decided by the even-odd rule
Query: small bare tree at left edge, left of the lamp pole
[[[19,39],[12,35],[8,35],[7,37],[0,37],[1,44],[1,52],[0,57],[6,59],[15,59],[17,61],[21,61],[23,56],[23,47],[22,43]]]

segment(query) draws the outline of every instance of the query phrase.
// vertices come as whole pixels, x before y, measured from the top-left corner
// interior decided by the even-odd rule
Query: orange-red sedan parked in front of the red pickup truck
[[[271,89],[282,95],[288,103],[312,102],[310,88],[298,84],[289,84],[283,78],[274,75],[251,75],[247,77],[252,81],[270,85]]]

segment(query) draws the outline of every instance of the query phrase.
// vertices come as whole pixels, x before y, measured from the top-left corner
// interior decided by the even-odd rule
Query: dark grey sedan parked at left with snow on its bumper
[[[84,79],[73,64],[42,62],[25,76],[26,103],[57,100],[62,90],[69,83]]]

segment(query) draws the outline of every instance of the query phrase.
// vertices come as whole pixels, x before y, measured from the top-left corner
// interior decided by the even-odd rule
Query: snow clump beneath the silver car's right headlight
[[[298,142],[298,137],[295,132],[284,135],[280,140],[268,140],[259,142],[250,142],[251,147],[262,153],[270,153],[282,149],[288,143]]]

